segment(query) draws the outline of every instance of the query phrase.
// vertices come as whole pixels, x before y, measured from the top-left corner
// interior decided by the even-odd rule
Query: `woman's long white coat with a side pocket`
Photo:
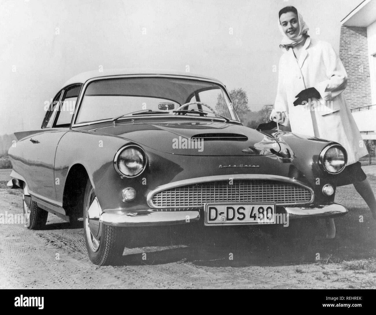
[[[359,161],[368,151],[342,94],[347,74],[331,44],[308,37],[299,61],[293,49],[283,50],[274,111],[285,112],[284,125],[290,124],[293,133],[336,141],[346,149],[348,165]],[[311,87],[320,99],[294,106],[295,96]]]

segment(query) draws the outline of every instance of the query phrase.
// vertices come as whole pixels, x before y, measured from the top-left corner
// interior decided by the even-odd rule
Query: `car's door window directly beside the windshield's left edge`
[[[76,84],[64,89],[64,94],[59,104],[55,126],[57,128],[69,127],[73,118],[74,108],[81,85]]]

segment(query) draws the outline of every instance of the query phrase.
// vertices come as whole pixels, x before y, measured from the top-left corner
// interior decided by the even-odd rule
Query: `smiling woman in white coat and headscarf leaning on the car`
[[[331,44],[316,41],[293,6],[279,11],[280,48],[277,97],[270,119],[302,133],[336,141],[347,151],[337,186],[353,183],[376,219],[376,200],[359,158],[368,154],[342,94],[347,74]]]

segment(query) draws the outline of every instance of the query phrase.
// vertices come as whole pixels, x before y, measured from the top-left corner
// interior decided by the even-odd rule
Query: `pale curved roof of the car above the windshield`
[[[139,75],[139,74],[156,74],[156,75],[172,75],[172,76],[185,76],[185,77],[196,77],[200,79],[208,79],[221,83],[217,79],[208,76],[202,76],[196,73],[190,73],[185,71],[175,71],[175,70],[164,70],[164,69],[103,69],[103,72],[99,70],[86,71],[80,74],[77,74],[74,77],[71,77],[65,84],[62,86],[64,88],[67,85],[74,83],[85,83],[89,79],[107,77],[107,76],[121,76],[121,75]],[[221,83],[223,84],[223,83]]]

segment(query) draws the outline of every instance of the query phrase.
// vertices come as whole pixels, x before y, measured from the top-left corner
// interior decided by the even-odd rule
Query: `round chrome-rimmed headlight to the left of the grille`
[[[146,167],[146,154],[138,145],[127,145],[115,154],[115,170],[125,177],[136,177]]]

